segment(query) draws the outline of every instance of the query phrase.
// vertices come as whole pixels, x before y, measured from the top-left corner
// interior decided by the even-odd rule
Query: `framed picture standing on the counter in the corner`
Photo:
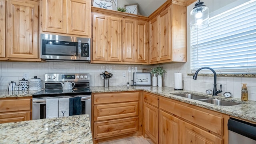
[[[134,72],[133,73],[134,85],[136,86],[150,86],[151,74],[150,72]]]

